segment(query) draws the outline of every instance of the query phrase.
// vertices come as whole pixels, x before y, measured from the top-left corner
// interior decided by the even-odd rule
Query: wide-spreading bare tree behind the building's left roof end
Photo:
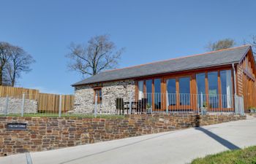
[[[67,58],[71,61],[68,67],[83,75],[95,75],[106,69],[114,69],[124,48],[116,50],[116,45],[108,35],[94,36],[87,45],[70,44]]]

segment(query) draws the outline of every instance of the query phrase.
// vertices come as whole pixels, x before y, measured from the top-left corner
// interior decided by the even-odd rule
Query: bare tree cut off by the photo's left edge
[[[11,58],[12,45],[7,42],[0,42],[0,85],[3,85],[4,81],[4,68],[7,66],[7,62]]]

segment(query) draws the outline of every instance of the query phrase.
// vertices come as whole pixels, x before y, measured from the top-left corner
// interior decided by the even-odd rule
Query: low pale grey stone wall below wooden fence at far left
[[[22,98],[0,98],[0,114],[20,114],[21,113]],[[26,113],[37,113],[37,101],[25,99],[24,114]]]

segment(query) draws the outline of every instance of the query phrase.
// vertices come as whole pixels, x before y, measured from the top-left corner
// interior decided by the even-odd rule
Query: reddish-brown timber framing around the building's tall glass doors
[[[208,73],[211,71],[217,71],[218,72],[218,93],[222,93],[222,88],[221,88],[221,80],[220,80],[220,71],[224,70],[231,70],[231,93],[234,93],[234,86],[233,86],[233,69],[231,66],[218,66],[214,68],[206,68],[206,69],[198,69],[196,71],[186,71],[186,72],[181,72],[181,73],[171,73],[171,74],[159,74],[157,76],[150,76],[150,77],[140,77],[140,78],[135,78],[135,100],[138,101],[138,81],[143,80],[143,93],[146,92],[146,80],[151,79],[152,83],[152,107],[154,110],[154,79],[161,79],[161,93],[166,93],[167,90],[167,79],[176,79],[176,108],[181,109],[183,106],[184,107],[189,107],[186,105],[180,105],[179,104],[179,78],[181,77],[190,77],[190,94],[197,94],[197,83],[196,83],[196,74],[205,74],[205,94],[206,94],[206,102],[207,102],[207,107],[208,109],[211,109],[210,106],[208,105]],[[222,107],[222,99],[220,98],[221,96],[219,95],[219,106]],[[233,98],[232,98],[233,99]],[[166,101],[167,98],[166,96],[163,96],[162,99],[162,109],[166,109]],[[233,100],[232,100],[232,107],[233,108]],[[197,98],[193,100],[190,98],[190,106],[192,106],[193,109],[197,110]],[[168,106],[168,109],[171,109],[171,106]]]

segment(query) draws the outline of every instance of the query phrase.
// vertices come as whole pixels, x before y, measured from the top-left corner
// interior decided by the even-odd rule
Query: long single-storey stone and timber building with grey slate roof
[[[235,111],[241,98],[248,110],[256,106],[255,74],[249,45],[103,71],[72,85],[73,112],[93,113],[97,101],[97,112],[116,114],[120,98],[138,104],[145,99],[143,109],[153,112]]]

